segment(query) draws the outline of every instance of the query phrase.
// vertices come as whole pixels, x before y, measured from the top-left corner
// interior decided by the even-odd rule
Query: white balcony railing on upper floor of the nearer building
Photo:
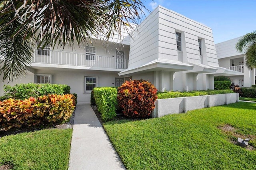
[[[128,59],[106,57],[99,55],[86,55],[64,51],[51,51],[38,49],[34,55],[34,63],[47,63],[59,65],[75,65],[86,67],[101,67],[114,69],[127,69]]]

